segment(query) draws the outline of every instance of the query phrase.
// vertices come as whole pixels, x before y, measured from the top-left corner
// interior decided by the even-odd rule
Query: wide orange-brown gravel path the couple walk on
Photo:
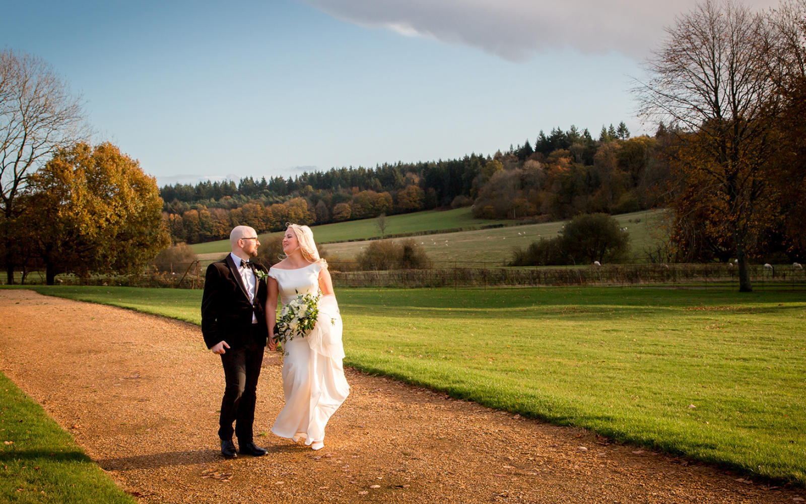
[[[347,333],[348,334],[348,333]],[[347,335],[349,345],[349,335]],[[280,362],[258,389],[260,458],[224,460],[220,361],[187,323],[0,290],[0,369],[139,502],[800,502],[674,457],[613,444],[347,369],[318,452],[268,434]]]

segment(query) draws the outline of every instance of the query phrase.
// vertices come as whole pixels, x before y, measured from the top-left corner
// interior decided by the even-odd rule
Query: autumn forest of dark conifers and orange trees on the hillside
[[[619,214],[656,206],[667,177],[659,156],[666,135],[630,138],[624,123],[588,129],[555,127],[505,152],[461,159],[384,164],[166,185],[163,219],[177,242],[221,240],[233,226],[280,231],[285,223],[324,224],[436,208],[472,206],[484,219],[556,220],[580,213]]]

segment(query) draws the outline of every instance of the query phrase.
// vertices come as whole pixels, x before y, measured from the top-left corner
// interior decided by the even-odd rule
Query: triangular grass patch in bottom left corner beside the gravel
[[[0,502],[135,504],[2,373],[0,405]]]

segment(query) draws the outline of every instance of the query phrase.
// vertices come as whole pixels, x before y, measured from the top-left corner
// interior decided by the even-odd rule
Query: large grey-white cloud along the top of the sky
[[[465,44],[507,60],[575,48],[643,59],[696,0],[303,0],[335,18]],[[778,0],[750,0],[754,9]]]

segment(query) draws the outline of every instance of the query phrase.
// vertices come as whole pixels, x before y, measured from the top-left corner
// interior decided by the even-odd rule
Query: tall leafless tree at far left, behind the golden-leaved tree
[[[0,248],[8,283],[14,282],[12,230],[19,195],[31,169],[85,135],[81,99],[37,56],[0,52]]]

